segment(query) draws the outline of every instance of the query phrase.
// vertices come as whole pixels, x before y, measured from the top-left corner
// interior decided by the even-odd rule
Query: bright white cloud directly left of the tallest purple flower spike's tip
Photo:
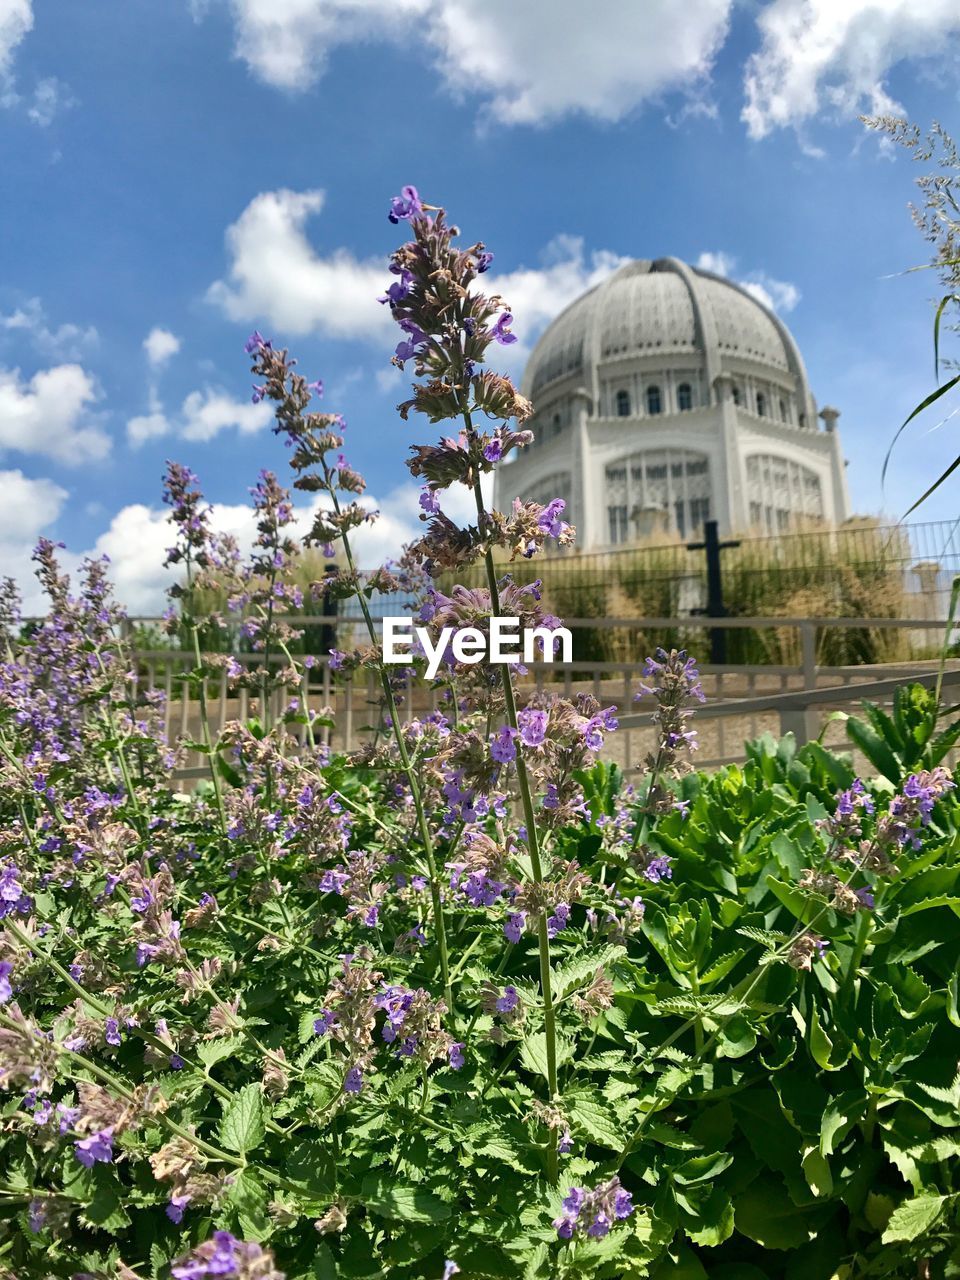
[[[323,191],[256,196],[227,230],[228,279],[210,287],[207,301],[230,320],[265,320],[289,334],[388,334],[389,312],[376,301],[389,283],[385,264],[358,262],[346,250],[320,257],[303,228],[323,206]]]

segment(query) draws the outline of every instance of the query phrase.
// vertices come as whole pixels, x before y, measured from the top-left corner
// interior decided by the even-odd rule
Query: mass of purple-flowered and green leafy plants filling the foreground
[[[512,337],[499,300],[468,289],[489,255],[458,251],[412,188],[392,216],[413,232],[392,260],[396,360],[425,379],[402,412],[462,421],[413,451],[429,518],[411,557],[486,575],[428,590],[421,620],[543,622],[536,584],[498,579],[493,549],[570,540],[562,504],[504,516],[479,495],[525,443],[506,425],[525,402],[481,370]],[[380,663],[369,612],[398,577],[355,572],[369,513],[342,424],[310,410],[319,388],[285,351],[260,334],[248,351],[296,486],[325,495],[307,540],[339,541],[324,590],[356,595],[371,641],[335,660],[379,676],[383,732],[352,756],[314,741],[306,663],[276,622],[300,548],[269,472],[247,562],[210,532],[192,474],[166,477],[188,680],[201,709],[211,672],[260,696],[218,740],[202,717],[210,773],[191,795],[129,678],[104,564],[72,595],[41,543],[51,609],[26,640],[3,594],[4,1280],[955,1274],[942,762],[960,730],[936,698],[905,691],[854,728],[870,783],[788,739],[692,772],[703,695],[676,652],[648,663],[659,746],[636,788],[598,763],[609,710],[518,707],[508,668],[451,662],[444,714],[404,721],[406,672]],[[440,509],[453,483],[477,495],[467,529]],[[223,627],[209,591],[260,667],[202,652]]]

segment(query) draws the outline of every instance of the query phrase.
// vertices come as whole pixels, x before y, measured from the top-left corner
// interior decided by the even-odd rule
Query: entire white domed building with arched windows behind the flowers
[[[534,443],[497,470],[494,503],[563,498],[581,550],[705,520],[780,532],[849,516],[840,415],[818,415],[790,330],[677,259],[628,262],[577,298],[522,390]]]

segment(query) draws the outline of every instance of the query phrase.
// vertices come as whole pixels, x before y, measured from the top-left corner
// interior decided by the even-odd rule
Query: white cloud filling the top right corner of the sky
[[[756,19],[742,120],[754,138],[822,110],[904,114],[884,81],[905,59],[956,55],[956,0],[773,0]]]

